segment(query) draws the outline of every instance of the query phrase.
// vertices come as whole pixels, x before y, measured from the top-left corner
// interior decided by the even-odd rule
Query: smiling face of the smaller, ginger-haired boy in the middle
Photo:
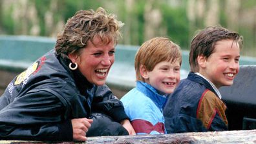
[[[162,61],[151,72],[144,69],[143,77],[160,94],[171,94],[180,82],[180,62]]]

